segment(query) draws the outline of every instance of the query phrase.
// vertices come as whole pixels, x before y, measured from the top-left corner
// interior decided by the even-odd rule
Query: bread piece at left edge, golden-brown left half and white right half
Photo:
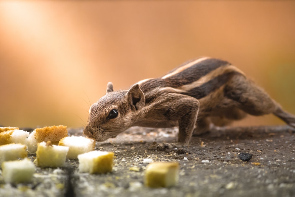
[[[29,136],[29,132],[18,129],[3,131],[0,133],[0,145],[11,143],[26,144]]]

